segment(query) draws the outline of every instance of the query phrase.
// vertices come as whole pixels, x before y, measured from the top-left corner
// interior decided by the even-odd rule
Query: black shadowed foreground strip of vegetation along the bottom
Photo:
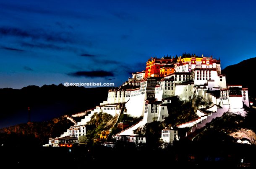
[[[207,144],[177,142],[167,149],[146,149],[133,144],[117,144],[115,148],[102,146],[67,147],[0,147],[1,164],[10,168],[27,169],[58,167],[86,168],[94,166],[112,168],[162,167],[255,167],[255,146],[247,144]]]

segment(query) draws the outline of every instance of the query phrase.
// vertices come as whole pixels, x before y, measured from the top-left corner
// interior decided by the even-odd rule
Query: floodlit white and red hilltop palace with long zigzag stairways
[[[112,137],[118,140],[126,136],[130,142],[144,143],[145,137],[137,136],[133,130],[153,120],[164,120],[170,113],[167,106],[173,97],[189,100],[195,95],[211,100],[212,104],[196,110],[198,118],[181,123],[175,128],[189,127],[190,132],[193,132],[225,112],[243,111],[244,106],[249,107],[248,89],[237,84],[226,84],[219,59],[203,55],[150,58],[145,70],[133,73],[123,85],[109,90],[106,101],[91,110],[67,116],[74,125],[60,137],[50,138],[49,146],[59,146],[68,137],[77,141],[79,136],[86,135],[86,123],[94,113],[99,112],[112,116],[119,116],[121,113],[133,117],[143,116],[138,123]],[[83,119],[79,122],[73,120],[78,116]],[[163,128],[162,139],[165,142],[178,140],[178,133],[172,128]]]

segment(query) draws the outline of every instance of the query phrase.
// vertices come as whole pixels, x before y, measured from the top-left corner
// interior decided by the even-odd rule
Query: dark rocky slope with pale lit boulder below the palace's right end
[[[254,108],[236,113],[224,113],[203,128],[196,130],[193,141],[200,143],[236,143],[244,141],[256,145],[256,118]],[[240,140],[240,141],[239,141]]]

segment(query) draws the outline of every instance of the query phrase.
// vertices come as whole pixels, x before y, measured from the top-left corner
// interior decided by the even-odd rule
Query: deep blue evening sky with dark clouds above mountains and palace
[[[254,0],[0,0],[0,88],[121,85],[150,57],[256,56]]]

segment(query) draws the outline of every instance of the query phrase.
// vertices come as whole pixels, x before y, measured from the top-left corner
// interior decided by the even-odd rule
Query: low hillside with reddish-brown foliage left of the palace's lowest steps
[[[0,129],[0,144],[6,147],[39,147],[49,137],[59,137],[73,125],[64,116],[44,122],[29,122]]]

